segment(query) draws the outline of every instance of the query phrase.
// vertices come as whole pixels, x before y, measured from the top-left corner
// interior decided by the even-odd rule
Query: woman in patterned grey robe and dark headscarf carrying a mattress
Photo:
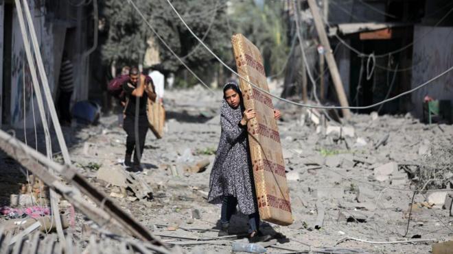
[[[248,237],[251,242],[264,242],[271,237],[259,231],[255,184],[247,140],[247,122],[256,116],[254,110],[244,110],[242,94],[234,82],[223,88],[220,110],[220,142],[209,179],[209,203],[222,203],[219,236],[228,235],[228,227],[236,205],[248,215]],[[278,110],[275,118],[280,117]]]

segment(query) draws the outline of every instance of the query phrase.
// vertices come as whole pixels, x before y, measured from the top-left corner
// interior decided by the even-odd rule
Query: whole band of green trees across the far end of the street
[[[217,60],[191,36],[167,1],[132,1],[170,48],[177,55],[185,57],[184,62],[209,83],[213,73],[218,70]],[[229,66],[235,67],[231,36],[237,33],[244,34],[257,45],[262,52],[267,73],[276,72],[283,65],[288,47],[279,1],[266,1],[262,7],[255,5],[252,0],[172,0],[172,4],[199,38],[206,34],[205,44]],[[128,1],[106,0],[100,5],[108,25],[108,36],[102,45],[104,62],[115,60],[119,65],[141,62],[148,47],[147,40],[154,38],[159,45],[164,71],[176,73],[176,77],[185,79],[185,82],[176,83],[191,85],[197,82],[189,77],[190,73],[181,77],[185,67],[154,36]]]

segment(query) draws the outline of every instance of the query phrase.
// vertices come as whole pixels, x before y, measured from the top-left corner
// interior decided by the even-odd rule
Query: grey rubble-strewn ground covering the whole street
[[[151,200],[137,200],[131,192],[97,177],[102,170],[124,170],[126,135],[115,115],[102,117],[97,126],[64,129],[71,160],[91,183],[168,244],[194,253],[230,253],[231,242],[246,239],[216,238],[220,207],[206,201],[220,137],[221,97],[219,91],[211,95],[198,87],[165,94],[165,137],[157,140],[148,132],[143,170],[132,173],[152,187]],[[279,131],[294,223],[289,227],[262,223],[265,232],[284,236],[267,248],[268,253],[328,249],[428,253],[434,242],[451,239],[453,217],[442,209],[447,192],[433,190],[453,188],[451,125],[425,125],[409,115],[374,114],[354,114],[343,125],[332,121],[323,125],[322,120],[315,125],[316,116],[307,116],[299,107],[276,106],[283,113]],[[183,166],[205,159],[211,164],[201,173]],[[13,165],[2,162],[3,168]],[[16,186],[16,181],[8,182]],[[413,190],[421,188],[430,190],[415,195],[410,212]],[[316,229],[322,211],[323,224]],[[77,214],[75,227],[68,229],[81,246],[89,238],[84,224],[84,216]],[[245,217],[233,216],[233,232],[246,233],[246,229]],[[433,242],[399,242],[417,240]]]

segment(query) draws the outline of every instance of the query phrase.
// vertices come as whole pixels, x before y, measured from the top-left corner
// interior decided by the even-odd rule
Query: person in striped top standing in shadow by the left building
[[[60,88],[60,96],[58,97],[58,111],[60,113],[60,124],[71,125],[71,112],[69,105],[71,103],[73,85],[73,65],[67,56],[67,52],[63,52],[63,58],[60,68],[60,81],[58,84]]]

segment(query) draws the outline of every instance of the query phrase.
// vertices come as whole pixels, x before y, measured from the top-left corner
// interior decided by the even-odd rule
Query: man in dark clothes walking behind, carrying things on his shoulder
[[[123,90],[126,94],[123,129],[128,134],[126,138],[124,164],[126,166],[132,166],[131,158],[133,151],[133,166],[139,168],[141,155],[145,147],[146,134],[148,132],[146,105],[148,97],[152,101],[156,100],[156,94],[154,93],[152,79],[147,79],[145,75],[139,72],[137,67],[130,68],[129,77],[129,81],[123,84]]]

